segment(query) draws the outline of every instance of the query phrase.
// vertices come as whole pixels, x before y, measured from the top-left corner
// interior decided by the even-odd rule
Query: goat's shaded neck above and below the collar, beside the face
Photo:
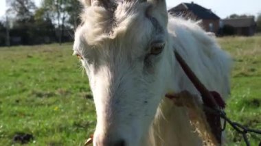
[[[172,38],[171,38],[172,39]],[[170,43],[170,42],[169,42]],[[179,84],[184,79],[181,75],[183,71],[174,58],[174,47],[168,44],[168,61],[166,68],[169,68],[169,82],[166,83],[166,92],[181,92]],[[181,77],[182,76],[182,77]],[[155,119],[150,127],[150,145],[155,146],[173,146],[173,145],[202,145],[202,141],[198,138],[194,128],[190,124],[188,114],[185,108],[177,107],[167,98],[163,98],[157,109]]]

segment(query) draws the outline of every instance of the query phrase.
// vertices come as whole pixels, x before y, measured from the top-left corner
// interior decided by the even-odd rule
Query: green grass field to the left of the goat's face
[[[0,49],[0,145],[82,145],[95,126],[87,77],[69,45]]]

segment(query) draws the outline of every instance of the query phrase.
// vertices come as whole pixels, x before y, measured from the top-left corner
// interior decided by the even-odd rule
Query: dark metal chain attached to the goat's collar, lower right
[[[224,124],[223,124],[222,130],[225,130],[227,123],[229,123],[229,125],[231,125],[231,127],[233,127],[234,130],[236,130],[236,132],[238,132],[239,134],[242,134],[242,138],[244,139],[245,144],[247,146],[250,145],[249,139],[247,138],[248,133],[249,134],[251,134],[251,133],[260,134],[260,136],[261,136],[261,130],[254,130],[249,127],[245,127],[244,125],[237,123],[235,121],[231,121],[231,119],[229,119],[227,117],[227,114],[225,113],[225,111],[220,110],[220,109],[209,108],[207,106],[203,106],[203,107],[204,107],[204,110],[207,110],[208,112],[213,112],[214,114],[218,114],[222,119],[224,119]],[[261,142],[260,142],[260,144],[261,144]]]

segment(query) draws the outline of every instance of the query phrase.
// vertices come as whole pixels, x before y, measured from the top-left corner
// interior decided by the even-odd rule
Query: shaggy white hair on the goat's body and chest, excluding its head
[[[231,59],[222,51],[213,36],[205,32],[198,23],[169,16],[169,41],[199,80],[208,90],[216,90],[221,97],[230,93],[229,75]],[[173,56],[171,54],[170,56]],[[188,90],[201,95],[183,73],[179,63],[172,58],[175,93]],[[201,99],[200,99],[201,100]],[[177,118],[178,117],[178,118]],[[181,126],[182,125],[182,126]],[[151,128],[154,145],[201,145],[198,134],[190,125],[185,107],[177,107],[169,99],[161,102]],[[194,132],[193,132],[194,131]]]

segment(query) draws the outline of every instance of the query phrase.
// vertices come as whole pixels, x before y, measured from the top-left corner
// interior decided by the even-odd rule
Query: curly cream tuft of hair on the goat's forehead
[[[146,8],[148,4],[135,3],[119,4],[113,11],[101,7],[86,8],[78,34],[90,45],[101,44],[104,40],[144,36],[152,27],[146,19]]]

